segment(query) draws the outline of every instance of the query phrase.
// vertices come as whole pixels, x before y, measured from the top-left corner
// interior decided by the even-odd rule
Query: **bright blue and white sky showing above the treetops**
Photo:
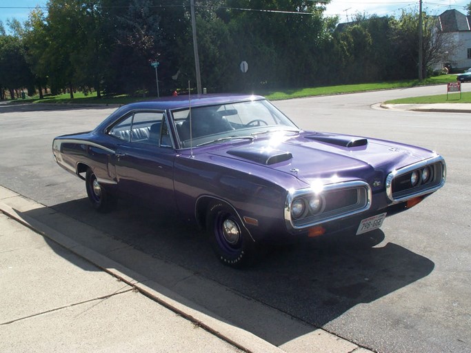
[[[315,0],[314,0],[315,1]],[[464,7],[471,0],[423,0],[423,9],[427,14],[438,15],[448,9],[455,9],[466,14]],[[196,0],[197,2],[197,0]],[[20,22],[28,19],[28,13],[35,6],[46,6],[47,0],[0,0],[0,21],[6,27],[8,19]],[[326,6],[326,16],[339,16],[339,22],[352,20],[355,13],[377,14],[379,16],[399,16],[402,10],[419,10],[419,0],[332,0]],[[7,28],[6,28],[7,29]]]

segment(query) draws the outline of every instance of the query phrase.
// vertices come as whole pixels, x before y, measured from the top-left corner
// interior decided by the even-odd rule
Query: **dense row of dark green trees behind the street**
[[[195,0],[201,81],[209,92],[413,79],[419,14],[356,14],[339,25],[310,0]],[[0,22],[1,99],[46,88],[157,95],[196,84],[190,0],[50,0]],[[450,41],[423,14],[424,74]],[[248,63],[241,72],[240,63]],[[430,72],[429,72],[430,73]],[[424,76],[425,77],[425,76]]]

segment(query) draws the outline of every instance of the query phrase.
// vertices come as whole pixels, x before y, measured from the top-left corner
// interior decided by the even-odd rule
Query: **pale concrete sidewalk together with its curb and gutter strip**
[[[0,352],[371,352],[1,186],[0,301]]]

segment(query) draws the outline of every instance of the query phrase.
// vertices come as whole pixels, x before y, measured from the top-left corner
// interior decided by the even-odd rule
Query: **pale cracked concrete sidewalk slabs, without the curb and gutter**
[[[0,214],[0,352],[242,352]]]

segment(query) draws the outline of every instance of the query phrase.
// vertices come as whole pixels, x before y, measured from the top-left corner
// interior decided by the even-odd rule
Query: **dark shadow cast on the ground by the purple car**
[[[434,269],[432,261],[399,245],[377,245],[385,237],[377,230],[270,246],[254,268],[232,270],[217,261],[203,232],[159,215],[159,210],[120,203],[114,212],[99,214],[87,199],[49,210],[26,214],[277,346],[325,327],[352,307],[376,301]],[[119,245],[109,248],[109,239]],[[124,254],[125,249],[135,255]],[[162,268],[145,259],[159,260]],[[168,270],[174,265],[187,273],[186,278]],[[340,325],[361,325],[355,322],[361,319],[348,320]]]

